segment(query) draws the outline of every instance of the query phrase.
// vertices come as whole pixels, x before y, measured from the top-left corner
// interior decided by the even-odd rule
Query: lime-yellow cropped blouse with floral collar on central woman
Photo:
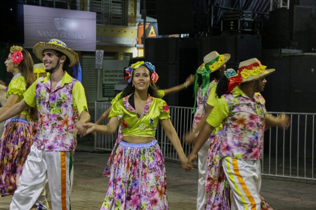
[[[143,113],[139,114],[128,102],[130,96],[112,104],[109,118],[120,120],[123,136],[154,137],[158,120],[170,118],[169,106],[162,99],[148,96]]]

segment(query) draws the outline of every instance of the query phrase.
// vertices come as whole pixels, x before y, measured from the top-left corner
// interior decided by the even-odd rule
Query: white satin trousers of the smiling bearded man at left
[[[52,209],[70,209],[72,171],[70,151],[45,151],[32,145],[19,179],[20,185],[12,197],[10,209],[30,209],[47,181],[52,198]]]

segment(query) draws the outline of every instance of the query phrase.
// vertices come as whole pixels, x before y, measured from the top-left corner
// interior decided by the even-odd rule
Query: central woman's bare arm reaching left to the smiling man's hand
[[[84,135],[87,135],[91,132],[98,132],[106,135],[113,134],[117,128],[119,127],[119,120],[117,117],[111,117],[110,121],[106,125],[97,125],[95,123],[85,123],[84,126],[86,127],[86,132]]]

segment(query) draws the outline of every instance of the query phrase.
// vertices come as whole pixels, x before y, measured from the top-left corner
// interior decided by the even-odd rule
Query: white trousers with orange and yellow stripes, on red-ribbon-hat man
[[[231,210],[260,210],[261,167],[259,160],[224,157],[222,165],[233,193]]]

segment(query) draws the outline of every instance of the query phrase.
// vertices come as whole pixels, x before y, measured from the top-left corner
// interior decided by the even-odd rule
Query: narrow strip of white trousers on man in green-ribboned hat
[[[205,181],[207,173],[208,152],[211,141],[206,141],[198,151],[198,184],[197,184],[197,210],[203,210],[205,205]]]

